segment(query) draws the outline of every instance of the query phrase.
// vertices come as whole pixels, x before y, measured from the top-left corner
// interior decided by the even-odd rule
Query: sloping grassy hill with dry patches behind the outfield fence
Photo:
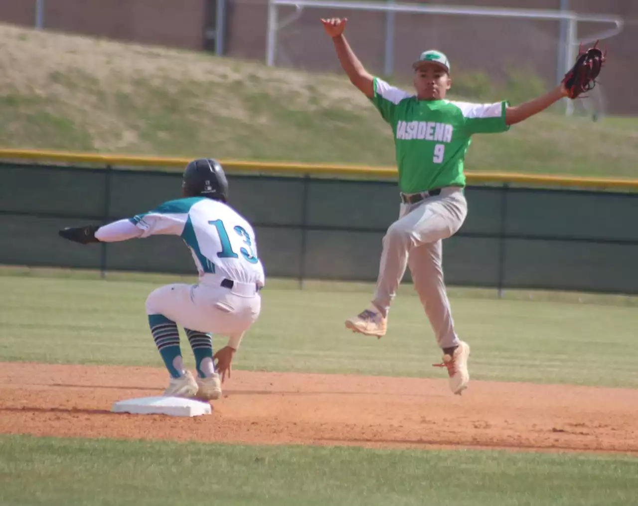
[[[0,117],[8,148],[394,163],[389,126],[343,75],[8,25]],[[638,119],[547,112],[477,135],[466,169],[638,177],[637,146]]]

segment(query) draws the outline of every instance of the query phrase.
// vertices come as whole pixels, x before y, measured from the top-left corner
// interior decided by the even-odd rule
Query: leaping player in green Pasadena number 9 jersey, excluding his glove
[[[564,96],[561,84],[530,102],[471,104],[445,99],[452,81],[450,62],[437,50],[422,52],[413,63],[416,93],[390,86],[366,71],[346,42],[346,19],[322,19],[343,70],[392,127],[399,172],[399,219],[383,237],[375,296],[364,311],[346,319],[354,332],[382,337],[390,304],[406,267],[443,349],[450,389],[461,394],[470,381],[470,346],[454,330],[443,282],[441,241],[454,235],[467,215],[463,162],[473,134],[505,132]]]

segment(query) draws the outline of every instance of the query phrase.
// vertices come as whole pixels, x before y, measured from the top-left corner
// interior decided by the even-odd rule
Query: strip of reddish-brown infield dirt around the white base
[[[235,371],[212,416],[110,412],[159,395],[163,369],[0,364],[0,433],[366,447],[638,454],[638,390]]]

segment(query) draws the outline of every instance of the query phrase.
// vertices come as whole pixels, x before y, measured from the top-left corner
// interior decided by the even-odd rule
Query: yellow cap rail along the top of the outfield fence
[[[0,148],[0,159],[61,162],[64,164],[98,164],[114,167],[174,167],[182,168],[192,158],[145,157],[136,155],[106,155],[71,151],[11,150]],[[309,174],[315,176],[358,176],[396,178],[394,167],[366,165],[302,164],[290,162],[253,162],[219,160],[228,171],[271,174]],[[555,176],[550,174],[517,174],[503,172],[466,171],[470,184],[542,185],[570,188],[604,188],[638,190],[638,179]]]

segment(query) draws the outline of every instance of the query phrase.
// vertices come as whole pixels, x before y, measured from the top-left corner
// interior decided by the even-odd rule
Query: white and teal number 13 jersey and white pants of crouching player
[[[258,289],[265,282],[253,227],[222,202],[188,197],[102,226],[95,233],[103,242],[151,235],[181,237],[200,279],[197,284],[174,283],[152,291],[146,300],[147,314],[189,330],[227,335],[228,346],[239,348],[244,332],[260,314]],[[225,279],[232,284],[224,284]]]

